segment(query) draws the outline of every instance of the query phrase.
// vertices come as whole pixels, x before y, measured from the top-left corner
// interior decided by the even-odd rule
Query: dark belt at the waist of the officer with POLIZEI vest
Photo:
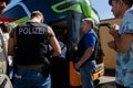
[[[24,69],[37,70],[37,72],[40,72],[40,68],[42,66],[43,66],[43,64],[39,64],[39,65],[17,65],[18,68],[24,68]]]

